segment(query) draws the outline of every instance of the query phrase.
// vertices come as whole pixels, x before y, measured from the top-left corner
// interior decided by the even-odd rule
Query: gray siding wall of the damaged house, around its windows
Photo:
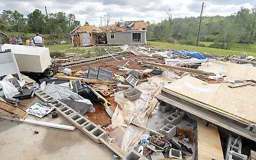
[[[110,38],[110,33],[115,33],[115,38]],[[133,41],[133,33],[141,33],[141,41]],[[108,39],[108,44],[146,44],[146,32],[145,31],[131,31],[131,32],[107,32],[106,37]]]

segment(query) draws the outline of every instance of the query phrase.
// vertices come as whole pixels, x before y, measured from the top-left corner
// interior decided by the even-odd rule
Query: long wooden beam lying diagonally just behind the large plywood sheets
[[[178,70],[178,71],[183,71],[183,72],[188,72],[188,73],[199,74],[199,75],[206,75],[206,76],[215,76],[216,75],[212,72],[204,72],[204,71],[197,70],[194,68],[186,68],[186,67],[181,67],[181,66],[167,65],[167,64],[161,64],[161,63],[152,63],[152,62],[142,62],[142,63],[154,65],[154,66],[160,66],[160,67],[164,67],[164,68],[169,68],[172,70]]]

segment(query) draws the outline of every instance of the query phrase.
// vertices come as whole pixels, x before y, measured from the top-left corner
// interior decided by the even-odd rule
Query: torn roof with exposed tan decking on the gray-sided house
[[[142,28],[146,28],[146,25],[147,22],[144,22],[143,20],[117,22],[112,26],[112,30],[116,29],[116,31],[142,31]]]

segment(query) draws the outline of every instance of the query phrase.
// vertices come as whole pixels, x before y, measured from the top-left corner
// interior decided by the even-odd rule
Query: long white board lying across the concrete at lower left
[[[56,123],[42,122],[42,121],[35,121],[35,120],[29,120],[29,119],[26,119],[26,120],[16,119],[16,118],[11,118],[9,116],[4,116],[4,115],[0,115],[0,118],[7,119],[7,120],[12,120],[12,121],[30,123],[30,124],[40,125],[40,126],[59,128],[59,129],[66,129],[66,130],[75,130],[76,129],[75,126],[68,126],[68,125],[63,125],[63,124],[56,124]]]

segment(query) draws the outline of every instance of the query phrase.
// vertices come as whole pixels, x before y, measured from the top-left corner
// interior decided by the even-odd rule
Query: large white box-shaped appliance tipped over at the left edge
[[[2,50],[7,49],[11,49],[13,52],[19,71],[42,73],[51,65],[51,57],[48,48],[4,44]]]

